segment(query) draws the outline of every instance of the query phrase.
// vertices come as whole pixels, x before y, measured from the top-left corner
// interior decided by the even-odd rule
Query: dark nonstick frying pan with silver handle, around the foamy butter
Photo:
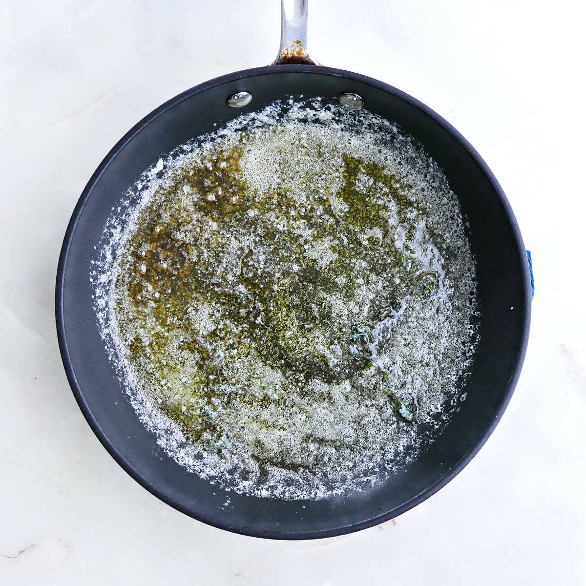
[[[515,217],[478,153],[443,118],[402,91],[357,73],[316,64],[306,47],[306,0],[282,0],[275,63],[193,87],[138,122],[98,166],[71,216],[59,259],[57,335],[80,409],[132,478],[186,515],[216,527],[278,539],[329,537],[395,517],[427,499],[464,468],[498,423],[522,366],[531,279]],[[178,145],[278,98],[303,95],[364,107],[396,122],[444,169],[468,218],[481,318],[467,400],[420,455],[363,492],[324,500],[278,500],[226,492],[167,456],[147,431],[108,362],[92,307],[94,246],[113,206],[141,173]],[[251,97],[251,100],[250,100]]]

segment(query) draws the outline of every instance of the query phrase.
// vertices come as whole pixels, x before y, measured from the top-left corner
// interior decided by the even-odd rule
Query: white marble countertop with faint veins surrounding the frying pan
[[[581,9],[314,0],[322,63],[407,91],[485,158],[537,289],[517,390],[472,463],[393,521],[288,543],[195,522],[122,471],[70,392],[53,313],[64,230],[103,156],[169,97],[270,62],[277,0],[5,0],[0,584],[583,585]]]

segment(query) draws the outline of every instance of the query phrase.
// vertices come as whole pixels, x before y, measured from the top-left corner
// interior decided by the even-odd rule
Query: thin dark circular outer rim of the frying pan
[[[437,122],[441,127],[444,128],[449,134],[452,135],[458,141],[462,147],[471,155],[473,161],[478,165],[479,169],[485,175],[486,179],[492,185],[492,188],[495,190],[496,195],[498,195],[500,199],[500,203],[503,206],[503,210],[506,214],[507,220],[510,224],[510,227],[513,231],[513,237],[515,239],[516,247],[517,247],[517,254],[519,254],[520,266],[522,267],[522,283],[524,288],[524,308],[523,308],[523,322],[522,322],[522,330],[520,335],[520,346],[519,350],[517,351],[516,362],[515,362],[515,369],[513,370],[508,384],[505,396],[503,400],[500,402],[498,409],[495,412],[495,416],[492,418],[490,425],[482,432],[476,442],[472,445],[472,447],[459,459],[456,464],[448,470],[447,473],[441,476],[436,482],[434,482],[431,486],[427,489],[422,490],[418,495],[415,495],[413,498],[408,500],[403,505],[396,507],[395,509],[381,513],[381,515],[372,517],[372,519],[367,519],[359,523],[353,523],[349,525],[341,525],[338,527],[333,527],[330,529],[324,530],[310,530],[304,532],[275,532],[275,531],[261,531],[255,529],[255,527],[248,527],[248,526],[234,526],[229,523],[223,523],[221,519],[217,517],[213,517],[213,515],[202,515],[200,513],[195,513],[193,510],[190,510],[189,507],[183,506],[181,503],[176,502],[174,499],[163,493],[160,489],[157,488],[152,482],[145,479],[133,466],[130,462],[128,462],[125,458],[123,458],[118,452],[115,445],[113,445],[110,440],[106,437],[105,433],[101,430],[100,425],[96,418],[94,418],[93,414],[88,407],[84,396],[83,391],[81,390],[79,384],[77,383],[77,379],[73,369],[73,363],[70,359],[69,354],[69,347],[67,345],[67,335],[65,331],[65,322],[64,322],[64,309],[63,309],[63,297],[64,297],[64,278],[65,272],[67,267],[67,259],[69,258],[69,251],[71,247],[71,243],[73,240],[73,236],[76,231],[77,223],[79,222],[79,218],[81,213],[83,212],[84,207],[86,206],[87,200],[91,196],[91,192],[94,189],[94,186],[100,180],[101,175],[104,173],[105,169],[108,168],[110,163],[113,161],[115,156],[117,156],[118,152],[120,152],[125,145],[134,138],[144,127],[158,118],[160,115],[165,113],[169,108],[175,107],[182,101],[195,96],[196,94],[202,93],[203,91],[209,90],[210,88],[222,85],[227,82],[234,82],[243,79],[250,79],[251,77],[257,76],[265,76],[267,74],[280,74],[280,73],[312,73],[312,74],[321,74],[321,75],[330,75],[334,77],[345,77],[347,79],[360,81],[362,83],[368,84],[370,86],[379,88],[380,90],[386,91],[387,93],[392,94],[400,98],[401,100],[406,101],[412,107],[421,110],[424,114],[428,117],[432,118],[435,122]],[[246,89],[243,87],[243,90]],[[73,209],[71,214],[71,218],[67,225],[67,229],[64,235],[62,248],[59,254],[59,264],[57,265],[57,278],[56,278],[56,289],[55,289],[55,315],[56,315],[56,329],[57,329],[57,340],[59,342],[59,350],[63,361],[63,366],[66,372],[67,380],[69,381],[69,385],[71,390],[73,391],[73,395],[77,401],[77,404],[81,410],[81,413],[86,418],[88,425],[90,425],[91,430],[94,432],[100,443],[103,447],[107,450],[108,454],[114,458],[118,465],[124,469],[135,481],[139,483],[143,488],[147,489],[152,495],[156,496],[156,498],[162,500],[167,505],[172,506],[174,509],[179,510],[180,512],[184,513],[192,517],[193,519],[199,520],[203,523],[209,524],[211,526],[217,527],[219,529],[228,530],[233,533],[239,533],[246,536],[251,537],[264,537],[267,539],[283,539],[283,540],[301,540],[301,539],[323,539],[326,537],[334,537],[339,536],[347,533],[353,533],[356,531],[360,531],[363,529],[367,529],[368,527],[372,527],[376,524],[383,523],[387,520],[393,519],[398,515],[403,514],[407,510],[417,506],[434,493],[438,492],[443,486],[447,485],[462,469],[465,468],[466,465],[472,460],[472,458],[478,453],[478,451],[482,448],[485,444],[486,440],[490,437],[492,432],[495,430],[496,425],[499,423],[500,418],[502,417],[503,413],[506,410],[507,405],[509,404],[510,398],[512,397],[513,391],[515,390],[515,386],[517,380],[519,379],[520,372],[523,366],[523,360],[527,349],[527,342],[529,339],[529,327],[530,327],[530,318],[531,318],[531,281],[530,281],[530,274],[529,274],[529,264],[527,263],[526,251],[523,244],[523,239],[520,233],[519,226],[517,224],[515,215],[513,214],[512,208],[507,200],[503,189],[499,185],[498,180],[496,180],[495,176],[493,175],[492,171],[490,171],[488,165],[485,161],[483,161],[482,157],[478,154],[478,152],[472,147],[472,145],[464,138],[447,120],[442,118],[439,114],[437,114],[434,110],[432,110],[427,105],[423,104],[422,102],[418,101],[414,97],[410,96],[409,94],[404,93],[397,88],[390,86],[389,84],[383,83],[382,81],[373,79],[372,77],[363,76],[359,73],[353,73],[352,71],[346,71],[342,69],[335,69],[332,67],[323,67],[323,66],[315,66],[315,65],[278,65],[278,66],[265,66],[265,67],[255,67],[253,69],[246,69],[241,71],[236,71],[234,73],[229,73],[224,76],[216,77],[212,80],[205,81],[197,86],[189,88],[186,91],[178,94],[175,97],[172,97],[170,100],[166,101],[165,103],[159,105],[158,108],[155,108],[151,113],[147,114],[142,120],[137,122],[115,145],[113,148],[110,149],[107,155],[105,155],[104,159],[98,165],[96,171],[94,171],[93,175],[91,176],[90,180],[88,180],[86,187],[81,192],[81,195],[76,203],[76,206]]]

